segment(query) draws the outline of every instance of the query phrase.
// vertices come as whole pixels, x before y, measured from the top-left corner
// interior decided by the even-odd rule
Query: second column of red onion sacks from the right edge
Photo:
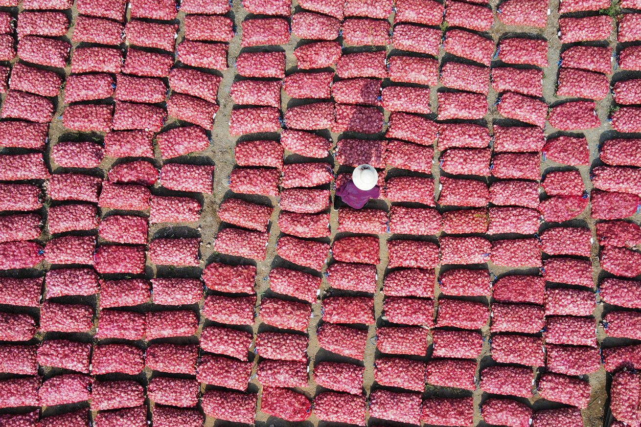
[[[608,7],[609,2],[606,3]],[[547,119],[554,133],[542,147],[545,170],[540,212],[544,221],[552,224],[545,224],[540,233],[544,253],[546,358],[538,395],[568,406],[541,414],[548,423],[554,417],[581,423],[581,410],[592,401],[593,390],[587,376],[597,375],[601,365],[590,260],[594,240],[590,218],[584,211],[589,201],[588,146],[597,144],[594,135],[598,133],[594,129],[602,124],[595,101],[607,95],[612,50],[583,47],[578,42],[607,40],[612,23],[606,15],[575,18],[575,12],[596,15],[601,7],[603,4],[563,2],[559,8],[558,35],[563,47],[554,93],[557,101],[551,104]],[[603,28],[593,32],[596,21]],[[570,43],[572,46],[567,45]],[[590,69],[591,65],[595,68]]]

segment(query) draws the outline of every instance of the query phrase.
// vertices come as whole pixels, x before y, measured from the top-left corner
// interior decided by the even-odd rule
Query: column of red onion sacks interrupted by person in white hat
[[[387,76],[385,48],[392,8],[389,1],[375,3],[347,1],[344,7],[321,8],[317,2],[304,2],[309,10],[331,15],[324,17],[332,24],[326,35],[315,37],[331,41],[303,47],[310,51],[320,46],[335,49],[332,62],[310,64],[304,53],[297,57],[301,69],[329,65],[336,69],[325,85],[324,96],[315,96],[331,96],[334,101],[325,104],[334,110],[328,127],[338,140],[333,152],[338,164],[335,194],[351,180],[354,167],[363,163],[378,169],[378,185],[383,187],[385,141],[372,137],[379,137],[383,130],[380,94],[382,79]],[[306,37],[312,35],[308,34]],[[342,54],[340,44],[334,41],[340,36],[345,46]],[[374,308],[377,279],[384,271],[380,257],[384,240],[379,235],[387,231],[387,206],[382,201],[370,205],[373,203],[383,209],[356,210],[335,196],[333,208],[338,216],[332,218],[338,226],[332,230],[331,261],[326,270],[329,288],[322,294],[322,323],[317,330],[320,350],[313,367],[314,381],[322,387],[314,399],[313,412],[322,421],[365,423],[365,371],[373,361],[372,339],[379,315]]]

